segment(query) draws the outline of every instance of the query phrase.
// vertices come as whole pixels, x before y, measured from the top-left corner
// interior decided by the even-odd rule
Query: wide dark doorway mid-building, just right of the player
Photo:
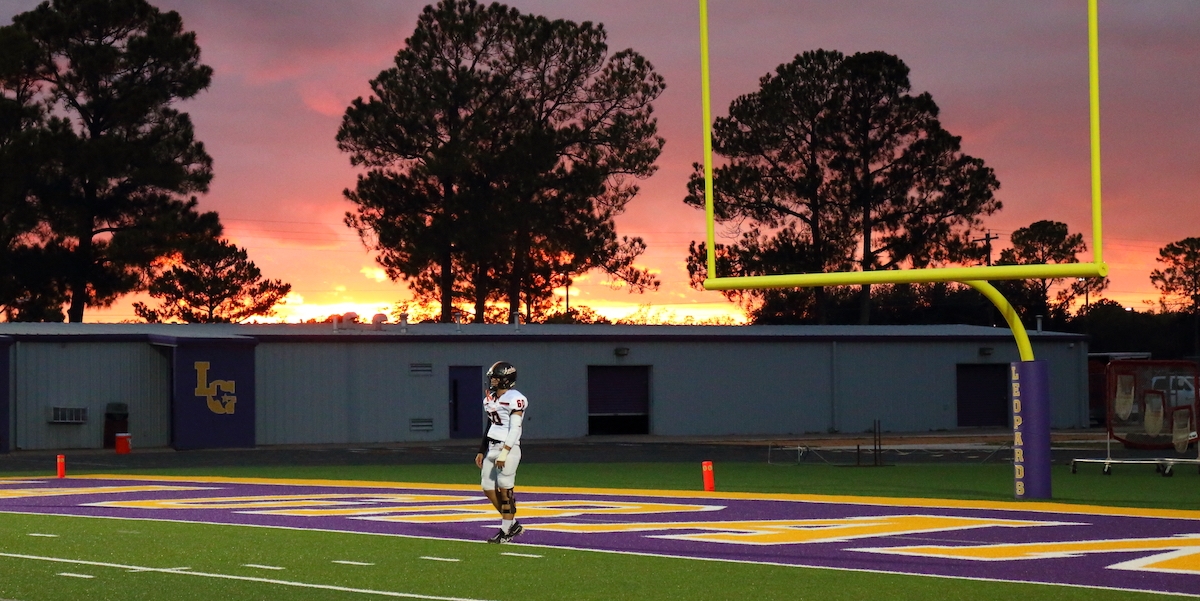
[[[588,434],[650,433],[650,366],[588,366]]]

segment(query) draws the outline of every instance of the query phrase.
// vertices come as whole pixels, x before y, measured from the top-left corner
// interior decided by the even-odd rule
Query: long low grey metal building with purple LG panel
[[[1052,426],[1087,427],[1086,338],[1030,335]],[[114,429],[176,449],[476,438],[497,360],[527,438],[1004,427],[1019,359],[1007,329],[960,325],[0,324],[0,452]]]

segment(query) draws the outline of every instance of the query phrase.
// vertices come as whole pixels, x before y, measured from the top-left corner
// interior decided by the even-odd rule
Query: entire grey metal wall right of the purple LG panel
[[[984,345],[991,345],[986,343]],[[613,348],[629,348],[617,357]],[[649,366],[650,433],[774,435],[954,429],[956,365],[1007,363],[1016,350],[980,357],[979,342],[364,342],[258,347],[258,443],[392,443],[449,438],[449,366],[517,366],[530,399],[527,438],[587,435],[588,366]],[[997,347],[1000,347],[997,344]],[[1060,348],[1061,347],[1061,348]],[[1051,362],[1055,427],[1085,427],[1081,344],[1037,344]],[[1012,356],[1009,356],[1012,355]],[[427,366],[427,375],[410,367]],[[1080,417],[1082,416],[1082,417]],[[432,419],[413,432],[414,417]]]

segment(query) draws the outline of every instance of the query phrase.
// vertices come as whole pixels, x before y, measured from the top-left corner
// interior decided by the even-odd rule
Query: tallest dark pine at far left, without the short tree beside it
[[[220,234],[196,198],[211,158],[172,108],[209,85],[196,35],[145,0],[52,0],[13,17],[4,38],[36,55],[28,101],[38,161],[28,187],[30,247],[64,252],[67,317],[144,289],[155,259],[188,236]],[[4,54],[4,53],[0,53]],[[50,298],[50,300],[56,300]]]

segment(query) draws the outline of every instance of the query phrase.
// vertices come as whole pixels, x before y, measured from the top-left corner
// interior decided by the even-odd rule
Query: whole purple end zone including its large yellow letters
[[[163,486],[163,487],[205,487],[205,489],[125,492],[107,494],[68,494],[42,497],[11,495],[17,489],[44,488],[82,488],[112,486]],[[406,488],[398,486],[380,486],[379,488],[338,487],[338,486],[295,486],[271,483],[229,483],[229,482],[185,482],[154,480],[112,480],[65,479],[43,480],[37,482],[5,482],[0,480],[0,511],[98,516],[118,518],[151,518],[205,522],[216,524],[252,524],[287,528],[311,528],[346,533],[390,534],[400,536],[422,536],[446,540],[482,541],[498,525],[494,512],[482,521],[457,521],[442,523],[406,523],[362,519],[337,516],[280,516],[247,512],[236,509],[133,509],[114,506],[95,506],[101,501],[128,501],[144,499],[196,499],[228,497],[268,497],[268,495],[322,495],[350,494],[370,497],[372,494],[442,494],[472,497],[476,500],[468,504],[487,505],[478,492],[450,491],[440,488]],[[548,501],[572,501],[584,510],[570,517],[522,517],[521,506],[536,507],[536,504]],[[719,509],[708,511],[666,511],[635,515],[607,515],[588,512],[588,504],[602,503],[632,504],[679,504],[708,505]],[[956,507],[954,501],[946,501],[938,507],[906,507],[875,499],[878,504],[836,504],[810,500],[761,500],[761,499],[722,499],[712,498],[672,498],[659,494],[616,495],[602,493],[554,493],[527,492],[518,494],[517,518],[526,525],[526,533],[518,540],[522,543],[548,547],[596,549],[628,553],[649,553],[679,558],[704,558],[733,561],[752,561],[811,567],[834,567],[850,570],[869,570],[895,573],[934,575],[948,577],[983,578],[996,581],[1018,581],[1048,584],[1070,584],[1085,587],[1103,587],[1124,590],[1142,590],[1153,593],[1200,594],[1200,513],[1189,517],[1138,517],[1135,515],[1094,515],[1052,511],[1025,511],[1006,509],[967,509]],[[354,506],[370,507],[372,501],[356,500]],[[395,506],[397,503],[374,501],[379,505]],[[462,505],[463,501],[422,501],[428,510],[431,505]],[[1066,507],[1066,506],[1064,506]],[[534,511],[530,509],[529,511]],[[1134,510],[1130,510],[1133,513]],[[401,511],[400,513],[404,513]],[[858,524],[877,524],[896,522],[904,516],[934,516],[934,519],[970,518],[972,521],[1013,521],[1036,522],[1006,527],[1003,524],[974,525],[965,529],[934,528],[925,531],[888,531],[887,528],[866,535],[844,540],[817,540],[815,542],[784,541],[796,531],[812,533],[821,528],[857,527]],[[494,518],[493,518],[494,517]],[[841,521],[830,524],[778,524],[779,521]],[[670,528],[670,523],[684,522],[695,528]],[[703,524],[698,524],[703,522]],[[722,528],[728,522],[751,523],[751,529],[762,528],[770,533],[764,539],[733,534],[728,540],[683,540],[679,536],[706,535],[714,531],[728,534],[737,528]],[[539,529],[539,524],[542,525]],[[558,524],[558,525],[551,525]],[[548,528],[574,528],[578,524],[590,524],[617,531],[575,533],[553,531]],[[617,524],[608,527],[605,524]],[[637,531],[619,531],[624,524],[649,524]],[[774,525],[773,525],[774,524]],[[628,530],[628,528],[625,528]],[[744,528],[742,528],[744,530]],[[857,531],[857,530],[850,530]],[[762,533],[760,533],[762,534]],[[667,537],[674,536],[674,537]],[[769,539],[769,540],[768,540]],[[1164,541],[1165,539],[1165,541]],[[746,545],[745,540],[764,540],[770,543]],[[773,542],[774,541],[774,542]],[[1121,542],[1114,542],[1121,541]],[[1135,551],[1121,551],[1118,545],[1139,541]],[[1178,541],[1177,545],[1174,541]],[[1043,546],[1033,548],[1032,559],[1013,559],[1003,549],[1022,549],[1027,547],[1006,547],[1012,545]],[[896,553],[900,547],[937,548],[994,546],[998,552],[988,560],[950,559],[930,557],[929,554]],[[1135,545],[1136,547],[1136,545]],[[990,549],[991,547],[989,547]],[[889,551],[893,549],[893,551]],[[990,553],[985,549],[984,553]]]

